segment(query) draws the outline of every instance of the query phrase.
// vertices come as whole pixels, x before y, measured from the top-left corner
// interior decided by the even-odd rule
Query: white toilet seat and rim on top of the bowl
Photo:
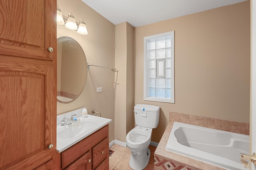
[[[136,126],[126,135],[126,141],[130,144],[139,145],[148,141],[151,138],[151,133],[151,128]]]

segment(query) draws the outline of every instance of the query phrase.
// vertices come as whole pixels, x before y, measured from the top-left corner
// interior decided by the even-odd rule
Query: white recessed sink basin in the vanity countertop
[[[72,124],[64,126],[63,129],[57,132],[57,137],[60,139],[70,139],[76,137],[81,133],[91,131],[93,127],[97,127],[98,122],[94,120],[84,120],[81,121],[81,128],[72,128]]]

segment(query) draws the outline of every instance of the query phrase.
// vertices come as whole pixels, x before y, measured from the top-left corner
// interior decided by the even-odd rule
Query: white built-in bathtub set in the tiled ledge
[[[166,150],[228,170],[248,170],[240,153],[249,154],[249,136],[174,122]]]

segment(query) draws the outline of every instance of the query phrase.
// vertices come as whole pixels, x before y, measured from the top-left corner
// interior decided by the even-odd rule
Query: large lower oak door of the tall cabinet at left
[[[29,170],[52,158],[56,77],[52,61],[0,55],[0,169]]]

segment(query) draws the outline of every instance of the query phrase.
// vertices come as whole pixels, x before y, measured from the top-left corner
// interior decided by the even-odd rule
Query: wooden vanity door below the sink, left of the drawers
[[[92,169],[92,153],[89,150],[64,170],[91,170],[91,169]]]

